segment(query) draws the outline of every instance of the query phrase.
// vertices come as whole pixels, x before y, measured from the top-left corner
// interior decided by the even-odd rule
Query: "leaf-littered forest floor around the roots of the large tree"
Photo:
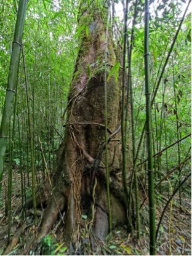
[[[11,238],[21,226],[21,213],[17,212],[21,204],[20,196],[20,175],[14,172],[14,184],[12,195],[13,223],[10,230]],[[7,177],[4,177],[4,191],[2,201],[0,201],[0,255],[3,254],[7,246],[7,218],[5,217],[6,206],[4,202],[7,191]],[[28,197],[31,196],[31,190],[26,190]],[[156,219],[159,220],[161,212],[164,209],[165,201],[160,201],[156,206]],[[172,200],[172,207],[167,209],[162,225],[159,229],[157,241],[158,255],[191,255],[191,196],[182,194],[182,209],[177,204],[178,198]],[[38,214],[42,215],[39,209]],[[41,217],[39,217],[40,221]],[[106,244],[102,246],[104,255],[148,255],[149,254],[149,228],[148,228],[148,202],[146,201],[141,211],[142,220],[142,238],[137,241],[136,233],[128,234],[126,228],[116,228],[106,239]],[[17,255],[26,241],[36,231],[33,224],[33,210],[26,211],[25,232],[20,236],[19,241],[9,255]],[[158,222],[156,223],[158,225]],[[63,227],[61,220],[57,220],[54,228],[46,238],[38,244],[38,247],[31,248],[30,255],[68,255],[68,248],[63,243]],[[90,251],[89,251],[90,252]],[[91,252],[90,252],[91,254]]]

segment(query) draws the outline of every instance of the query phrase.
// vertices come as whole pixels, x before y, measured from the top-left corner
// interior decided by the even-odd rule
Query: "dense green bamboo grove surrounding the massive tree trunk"
[[[105,161],[99,164],[105,170],[110,233],[105,254],[177,252],[173,247],[172,236],[177,231],[171,229],[172,213],[177,209],[178,213],[187,214],[190,209],[186,202],[191,199],[190,4],[191,0],[0,2],[0,255],[18,254],[22,251],[19,237],[24,230],[28,226],[38,230],[45,212],[41,191],[43,188],[46,194],[46,184],[59,212],[55,228],[61,223],[65,225],[65,211],[56,202],[52,174],[69,126],[68,94],[73,79],[79,76],[76,60],[81,41],[94,30],[91,19],[89,26],[79,23],[84,6],[83,14],[93,6],[100,9],[94,26],[102,19],[105,24],[104,57],[102,71],[99,70],[103,72],[104,97],[104,120],[99,125],[105,128],[105,139],[100,142]],[[86,18],[89,21],[90,17]],[[118,56],[114,65],[110,64],[111,45]],[[86,66],[88,78],[99,61]],[[108,128],[108,109],[113,104],[108,89],[111,78],[121,90],[119,124],[114,132]],[[98,125],[96,121],[92,124]],[[118,249],[113,242],[111,142],[121,147],[119,177],[126,207],[124,229],[140,247],[145,247],[142,241],[147,242],[143,250],[132,249],[129,241]],[[95,203],[97,180],[94,184]],[[94,204],[90,212],[94,216]],[[82,219],[86,220],[87,215],[82,214]],[[22,224],[13,246],[15,221]],[[94,217],[90,223],[94,223]],[[6,238],[2,246],[1,236]],[[63,247],[65,242],[56,246],[49,238],[48,234],[41,240],[42,254],[70,254],[70,246]],[[168,249],[162,249],[162,244]],[[185,247],[180,254],[190,255]]]

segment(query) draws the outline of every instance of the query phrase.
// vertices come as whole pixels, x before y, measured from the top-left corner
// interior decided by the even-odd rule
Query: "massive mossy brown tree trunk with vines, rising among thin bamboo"
[[[55,198],[50,199],[38,237],[41,239],[49,232],[59,211],[64,209],[63,236],[71,246],[71,254],[72,250],[77,253],[79,244],[85,241],[81,239],[82,231],[95,248],[98,241],[105,240],[109,228],[104,150],[105,12],[106,9],[102,12],[96,3],[89,6],[88,10],[86,5],[81,6],[79,27],[84,29],[81,31],[81,47],[68,96],[65,139],[58,152],[58,165],[53,177]],[[108,71],[117,61],[109,32]],[[115,81],[113,76],[107,82],[107,128],[110,137],[108,159],[113,226],[126,223],[121,186],[120,87],[121,82]],[[85,216],[87,220],[82,218]]]

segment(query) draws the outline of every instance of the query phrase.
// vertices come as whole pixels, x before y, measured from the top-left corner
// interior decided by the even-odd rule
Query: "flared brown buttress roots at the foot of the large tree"
[[[101,170],[101,172],[103,172],[103,170]],[[102,178],[102,182],[98,177],[96,178],[97,183],[95,183],[92,196],[90,190],[86,190],[87,183],[90,183],[89,174],[85,176],[87,177],[83,177],[81,191],[79,191],[81,194],[79,197],[81,198],[80,202],[75,201],[73,196],[71,196],[74,189],[73,186],[65,188],[65,193],[63,194],[57,191],[54,193],[54,196],[50,197],[42,217],[41,226],[28,240],[25,248],[19,252],[20,255],[27,255],[30,249],[38,246],[41,239],[50,233],[57,222],[57,218],[61,218],[60,214],[63,210],[66,211],[63,220],[63,225],[65,226],[63,241],[65,241],[65,245],[70,249],[70,255],[86,255],[91,251],[97,253],[97,255],[103,254],[102,245],[108,235],[108,206],[106,200],[106,185],[105,182],[103,182],[103,176],[105,175],[99,175],[100,178]],[[76,209],[77,204],[79,204],[81,208],[81,218],[78,216],[78,209]],[[113,227],[124,225],[127,221],[124,202],[114,196],[112,190],[111,205]],[[82,218],[82,214],[84,214],[84,217],[87,217],[87,220]],[[17,246],[19,238],[22,236],[25,228],[26,226],[23,225],[18,231],[18,234],[15,234],[12,242],[4,251],[4,254],[9,254],[9,252]],[[82,233],[84,234],[82,235]],[[23,238],[25,239],[25,237]]]

